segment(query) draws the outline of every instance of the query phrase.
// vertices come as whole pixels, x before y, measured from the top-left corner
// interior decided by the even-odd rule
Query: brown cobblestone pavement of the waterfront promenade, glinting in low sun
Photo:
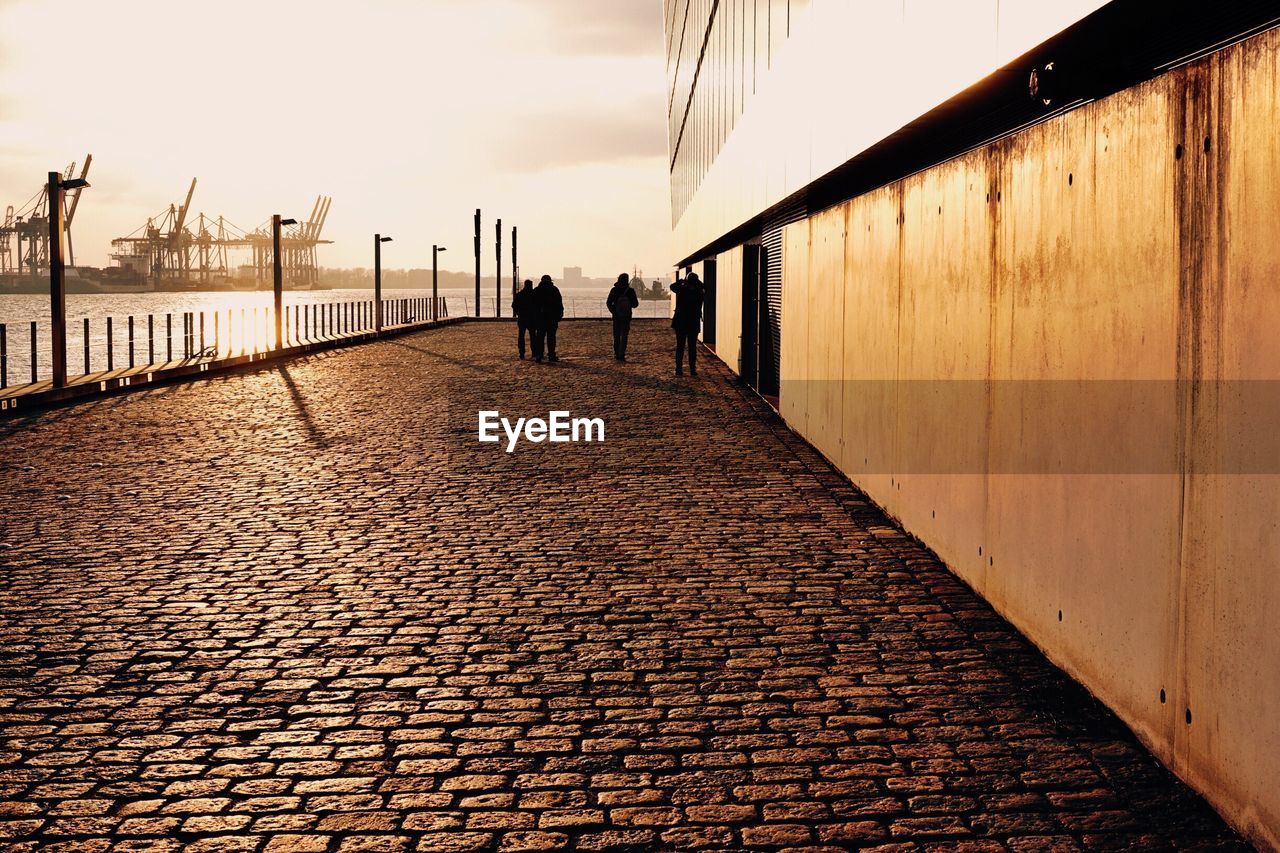
[[[669,330],[466,324],[0,428],[9,849],[1233,847]],[[604,444],[475,441],[479,409]]]

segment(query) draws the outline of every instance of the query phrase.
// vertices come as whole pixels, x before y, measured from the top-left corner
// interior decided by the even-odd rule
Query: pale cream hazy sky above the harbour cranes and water
[[[333,196],[325,266],[470,269],[479,206],[486,273],[502,216],[526,275],[659,274],[663,87],[662,0],[0,0],[0,209],[92,152],[81,264],[195,177],[246,229]]]

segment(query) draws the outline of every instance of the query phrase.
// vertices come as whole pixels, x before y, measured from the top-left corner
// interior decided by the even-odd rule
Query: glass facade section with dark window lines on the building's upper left
[[[677,222],[809,0],[666,0],[671,218]]]

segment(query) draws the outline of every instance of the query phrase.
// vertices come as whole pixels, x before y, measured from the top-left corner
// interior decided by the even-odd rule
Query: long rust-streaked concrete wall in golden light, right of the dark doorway
[[[780,405],[1280,848],[1277,127],[1270,32],[788,227]]]

